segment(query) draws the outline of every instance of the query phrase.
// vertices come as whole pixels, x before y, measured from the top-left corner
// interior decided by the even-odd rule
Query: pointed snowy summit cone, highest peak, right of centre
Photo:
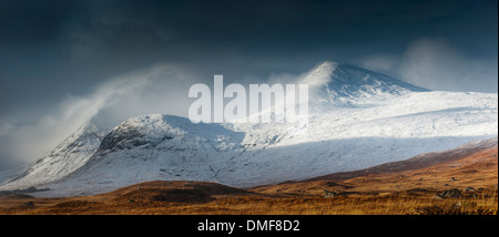
[[[312,101],[342,104],[364,104],[389,95],[427,91],[381,73],[336,62],[318,65],[302,83],[309,85]]]

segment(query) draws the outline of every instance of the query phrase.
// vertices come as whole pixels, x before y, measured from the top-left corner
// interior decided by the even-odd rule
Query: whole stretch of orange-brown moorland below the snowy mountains
[[[251,189],[156,181],[81,197],[9,194],[0,195],[0,214],[497,215],[497,154],[493,147],[439,162],[418,157]]]

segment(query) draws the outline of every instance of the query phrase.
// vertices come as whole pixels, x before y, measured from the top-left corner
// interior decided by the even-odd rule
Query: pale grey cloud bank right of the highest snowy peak
[[[473,58],[446,39],[421,38],[409,44],[398,73],[430,90],[497,92],[497,58]]]

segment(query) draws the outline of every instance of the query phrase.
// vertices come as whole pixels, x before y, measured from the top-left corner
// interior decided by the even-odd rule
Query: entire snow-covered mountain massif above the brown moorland
[[[0,189],[83,195],[154,179],[247,187],[354,171],[497,136],[498,94],[428,91],[326,62],[304,78],[308,123],[193,124],[132,117],[102,133],[91,123]]]

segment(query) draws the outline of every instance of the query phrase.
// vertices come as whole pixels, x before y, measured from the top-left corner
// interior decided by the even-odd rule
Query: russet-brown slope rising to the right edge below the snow
[[[441,190],[468,187],[497,192],[497,137],[477,141],[442,152],[385,163],[366,169],[340,172],[301,182],[252,188],[255,193],[324,195],[324,189],[342,193],[390,194],[408,193],[429,199]],[[496,187],[495,187],[496,186]],[[470,189],[470,188],[468,188]],[[497,197],[497,195],[496,195]]]

